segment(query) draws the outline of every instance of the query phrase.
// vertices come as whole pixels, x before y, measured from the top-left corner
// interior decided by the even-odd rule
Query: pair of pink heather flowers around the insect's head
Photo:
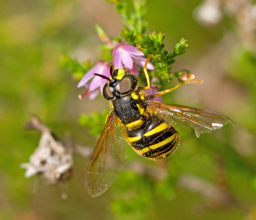
[[[144,64],[146,62],[146,58],[144,58],[144,53],[128,44],[120,43],[112,50],[112,53],[113,65],[115,68],[119,69],[125,66],[128,70],[134,72],[135,75],[139,75],[137,66],[139,65],[141,67],[144,67]],[[153,64],[149,62],[147,65],[147,69],[153,70]],[[83,96],[88,94],[89,99],[95,98],[100,91],[102,92],[104,85],[108,82],[107,79],[100,76],[95,76],[94,73],[98,73],[110,78],[109,63],[103,61],[98,62],[84,75],[84,77],[78,83],[78,88],[82,86],[88,88],[88,91]],[[92,81],[90,81],[91,78],[93,78]]]

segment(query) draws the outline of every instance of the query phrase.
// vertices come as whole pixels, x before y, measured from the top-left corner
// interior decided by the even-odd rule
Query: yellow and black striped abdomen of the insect
[[[178,132],[157,116],[145,118],[139,129],[127,130],[126,138],[138,154],[151,159],[164,158],[179,145]]]

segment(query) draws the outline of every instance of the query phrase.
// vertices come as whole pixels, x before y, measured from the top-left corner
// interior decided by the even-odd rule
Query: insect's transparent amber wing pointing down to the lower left
[[[114,183],[125,155],[124,140],[116,136],[115,118],[111,114],[87,167],[85,188],[90,196],[101,195]]]

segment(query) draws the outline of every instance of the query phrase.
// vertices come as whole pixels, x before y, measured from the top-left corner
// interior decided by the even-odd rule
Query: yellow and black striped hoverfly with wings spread
[[[160,159],[173,153],[179,145],[179,134],[172,125],[179,124],[186,129],[192,127],[199,137],[201,133],[220,129],[227,122],[233,123],[218,112],[152,101],[152,98],[169,93],[183,84],[200,81],[187,81],[172,89],[147,95],[144,90],[150,88],[146,69],[150,58],[151,55],[144,66],[145,87],[138,86],[137,77],[124,69],[111,72],[111,78],[94,73],[108,79],[103,96],[109,101],[111,111],[86,171],[85,187],[92,197],[104,193],[119,175],[117,170],[122,169],[125,159],[124,139],[136,153]],[[122,127],[124,139],[117,137],[116,124]]]

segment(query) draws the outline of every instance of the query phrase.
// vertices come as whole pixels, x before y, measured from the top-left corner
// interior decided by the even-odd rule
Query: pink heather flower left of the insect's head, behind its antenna
[[[105,75],[110,78],[109,63],[100,61],[84,75],[84,77],[77,85],[77,88],[80,88],[82,86],[88,88],[88,91],[85,94],[83,94],[82,97],[88,94],[89,99],[95,98],[100,91],[102,92],[104,85],[108,82],[107,79],[102,78],[100,76],[95,76],[93,73]],[[88,83],[88,81],[92,77],[94,78],[90,83]]]

